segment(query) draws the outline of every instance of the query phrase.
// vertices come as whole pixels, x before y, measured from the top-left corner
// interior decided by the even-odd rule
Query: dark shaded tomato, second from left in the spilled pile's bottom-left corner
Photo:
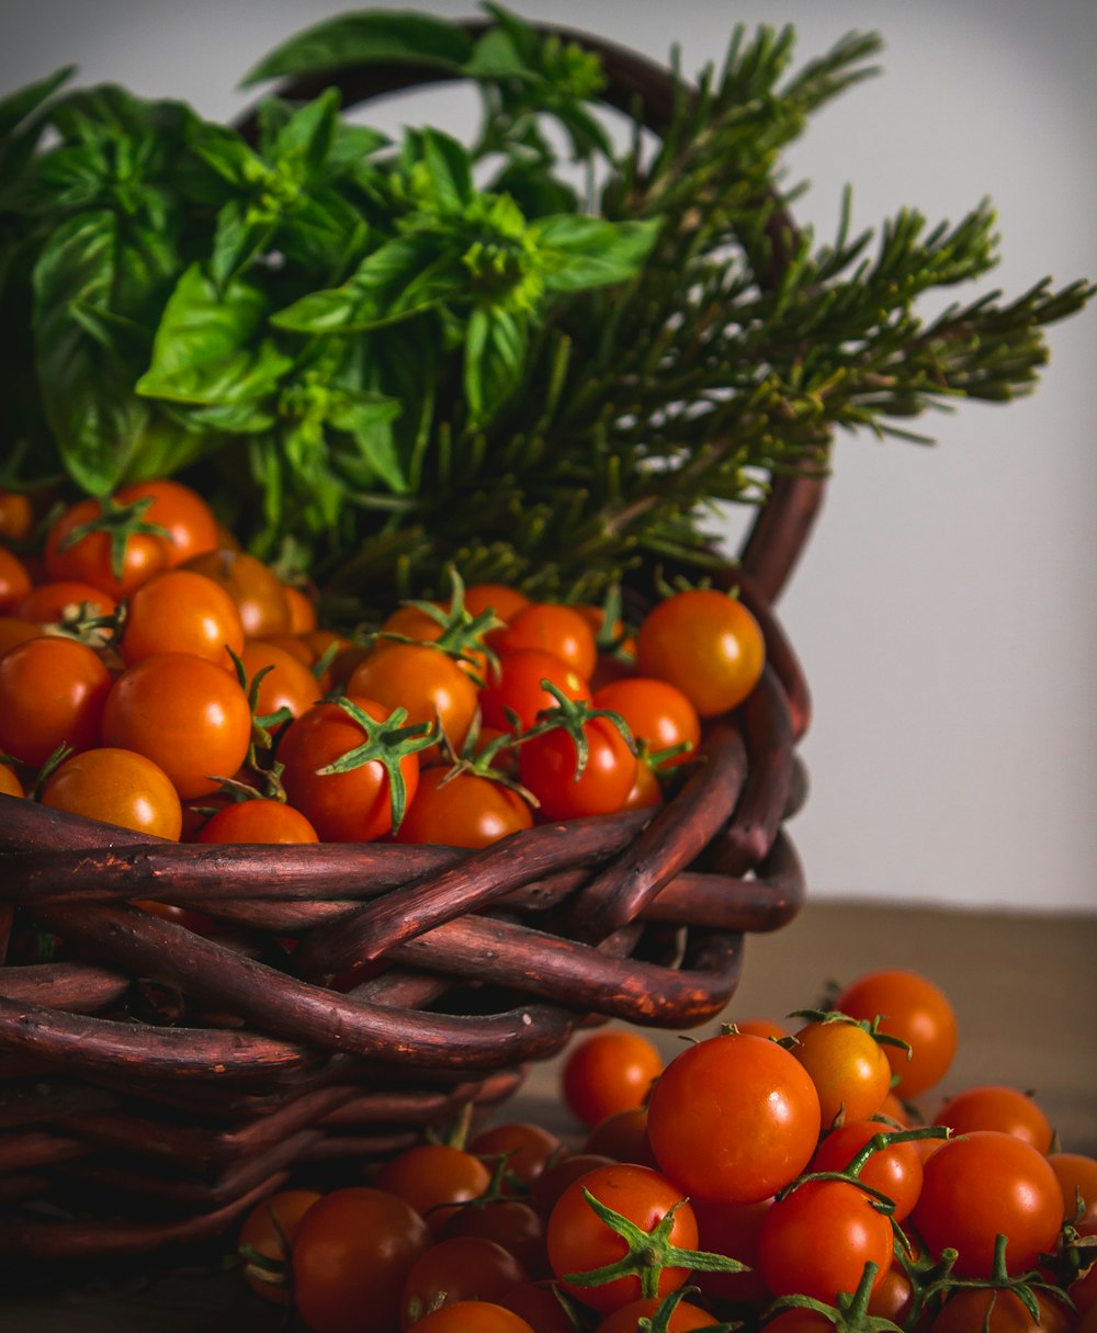
[[[325,1194],[293,1242],[293,1304],[311,1333],[361,1333],[364,1312],[396,1328],[400,1293],[431,1242],[419,1213],[380,1189]]]

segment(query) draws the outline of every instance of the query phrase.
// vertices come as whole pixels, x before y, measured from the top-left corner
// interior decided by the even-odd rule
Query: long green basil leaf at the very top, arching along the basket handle
[[[472,39],[457,24],[372,9],[328,19],[297,33],[252,67],[241,87],[345,65],[413,64],[457,73],[471,56]]]

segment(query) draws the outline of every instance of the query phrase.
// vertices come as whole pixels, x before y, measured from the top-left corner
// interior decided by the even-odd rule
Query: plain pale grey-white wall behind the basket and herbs
[[[399,0],[396,0],[399,3]],[[404,7],[413,8],[415,0]],[[423,0],[463,15],[472,4]],[[982,196],[1016,296],[1097,277],[1093,0],[515,0],[529,16],[693,71],[736,21],[790,21],[802,60],[850,29],[880,79],[789,159],[797,217],[828,239],[902,205],[952,221]],[[232,119],[236,80],[331,0],[0,0],[0,91],[77,61]],[[387,124],[408,113],[391,107]],[[419,103],[411,119],[431,117]],[[958,293],[964,295],[964,293]],[[842,439],[785,624],[812,682],[813,792],[793,830],[816,897],[1097,912],[1097,308],[1049,332],[1037,393],[922,421],[936,449]]]

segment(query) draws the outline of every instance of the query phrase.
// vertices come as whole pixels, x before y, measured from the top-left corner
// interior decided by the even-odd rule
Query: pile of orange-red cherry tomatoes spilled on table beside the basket
[[[1013,1088],[917,1117],[957,1042],[926,977],[833,1002],[665,1066],[636,1030],[586,1037],[561,1066],[585,1138],[501,1122],[284,1190],[241,1270],[311,1333],[1093,1333],[1097,1160]]]

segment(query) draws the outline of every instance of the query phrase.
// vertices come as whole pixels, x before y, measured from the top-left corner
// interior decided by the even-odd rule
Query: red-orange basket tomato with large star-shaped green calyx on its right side
[[[389,716],[371,698],[348,698],[373,721]],[[368,760],[345,773],[320,772],[365,744],[365,738],[361,725],[339,704],[315,704],[289,724],[279,742],[289,801],[325,842],[369,842],[392,828],[389,776],[380,760]],[[405,754],[399,772],[411,804],[419,785],[419,756]]]

